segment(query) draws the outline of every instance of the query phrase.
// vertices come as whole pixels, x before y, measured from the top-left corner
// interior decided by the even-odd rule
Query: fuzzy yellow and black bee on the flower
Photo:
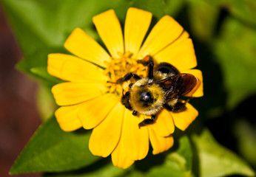
[[[132,78],[134,83],[129,84],[129,91],[122,94],[121,103],[132,114],[144,114],[151,119],[144,119],[141,126],[155,122],[156,115],[165,108],[167,111],[180,112],[186,110],[186,102],[181,97],[195,88],[198,78],[192,74],[180,73],[178,69],[169,63],[160,63],[154,72],[154,61],[150,55],[143,60],[138,60],[147,66],[147,77],[141,78],[138,74],[129,72],[119,78],[116,83],[121,84]]]

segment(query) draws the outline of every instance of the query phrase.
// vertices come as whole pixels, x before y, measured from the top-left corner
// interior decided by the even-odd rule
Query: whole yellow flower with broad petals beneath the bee
[[[114,10],[107,10],[92,21],[109,53],[77,28],[64,44],[73,55],[48,56],[48,72],[67,81],[52,89],[56,103],[61,105],[55,111],[59,125],[64,131],[93,128],[89,142],[92,154],[103,157],[111,154],[113,164],[122,168],[144,159],[149,141],[153,154],[172,147],[175,126],[184,131],[198,111],[189,103],[179,113],[163,109],[154,124],[139,128],[145,117],[134,117],[120,101],[126,83],[121,86],[107,81],[115,82],[128,72],[145,77],[146,68],[137,60],[151,55],[155,63],[171,63],[181,73],[198,77],[200,82],[186,96],[203,96],[202,73],[193,69],[197,60],[188,33],[165,15],[144,41],[151,18],[152,13],[129,8],[123,37]]]

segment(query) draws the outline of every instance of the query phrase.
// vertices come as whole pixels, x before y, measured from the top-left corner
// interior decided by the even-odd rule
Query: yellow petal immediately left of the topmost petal
[[[95,15],[92,21],[112,57],[119,58],[118,52],[124,53],[124,41],[121,25],[114,10]]]

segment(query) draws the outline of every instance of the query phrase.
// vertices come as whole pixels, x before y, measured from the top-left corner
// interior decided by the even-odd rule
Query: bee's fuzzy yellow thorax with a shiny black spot
[[[129,103],[141,114],[156,113],[164,103],[164,92],[157,85],[132,86]]]

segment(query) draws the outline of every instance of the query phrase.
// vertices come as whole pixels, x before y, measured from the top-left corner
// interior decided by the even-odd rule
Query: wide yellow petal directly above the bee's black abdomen
[[[157,60],[158,63],[171,63],[180,72],[181,70],[192,69],[197,66],[195,50],[190,38],[167,46],[161,52],[154,55],[154,59]]]

